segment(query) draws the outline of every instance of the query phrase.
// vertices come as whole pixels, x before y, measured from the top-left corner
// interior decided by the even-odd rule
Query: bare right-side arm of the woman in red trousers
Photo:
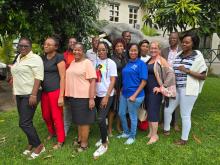
[[[64,105],[64,90],[65,90],[65,62],[61,61],[60,63],[57,64],[59,75],[60,75],[60,95],[58,98],[58,105],[61,107]]]

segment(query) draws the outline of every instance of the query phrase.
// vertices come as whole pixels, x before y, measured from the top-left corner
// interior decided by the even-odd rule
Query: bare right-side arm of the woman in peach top
[[[90,82],[90,86],[89,86],[89,109],[93,110],[93,108],[95,107],[95,101],[94,101],[94,97],[96,94],[96,79],[92,78],[89,79]]]

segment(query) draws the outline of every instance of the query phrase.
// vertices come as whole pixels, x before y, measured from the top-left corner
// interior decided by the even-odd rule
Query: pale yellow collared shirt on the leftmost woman
[[[43,80],[44,65],[40,56],[30,51],[26,56],[17,58],[11,68],[14,95],[31,94],[34,79]]]

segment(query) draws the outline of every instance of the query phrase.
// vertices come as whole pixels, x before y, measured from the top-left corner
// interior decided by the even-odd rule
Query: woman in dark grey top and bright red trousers
[[[54,37],[49,37],[44,42],[44,81],[42,83],[41,110],[46,122],[50,140],[57,136],[54,149],[62,147],[65,140],[63,123],[65,62],[64,57],[57,53],[59,42]]]

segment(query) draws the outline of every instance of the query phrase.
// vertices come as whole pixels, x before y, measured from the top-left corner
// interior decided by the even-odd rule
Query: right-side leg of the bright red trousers
[[[63,143],[65,140],[64,123],[63,123],[63,107],[58,106],[60,90],[49,92],[50,109],[52,113],[53,123],[56,129],[57,142]]]

